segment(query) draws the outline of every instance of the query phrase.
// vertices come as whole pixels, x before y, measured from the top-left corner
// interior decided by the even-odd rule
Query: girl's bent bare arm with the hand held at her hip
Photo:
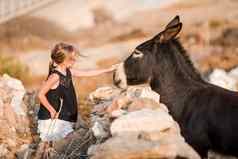
[[[38,99],[45,106],[45,108],[50,112],[51,118],[56,115],[56,111],[53,106],[49,103],[46,98],[46,93],[50,90],[50,88],[59,81],[59,76],[55,73],[51,74],[48,80],[41,86]]]

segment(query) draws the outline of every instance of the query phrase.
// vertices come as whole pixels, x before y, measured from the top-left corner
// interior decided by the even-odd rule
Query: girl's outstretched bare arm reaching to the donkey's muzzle
[[[116,66],[113,65],[112,67],[107,69],[81,70],[81,69],[71,68],[70,71],[72,75],[75,77],[90,77],[90,76],[97,76],[106,72],[112,72],[115,69],[116,69]]]

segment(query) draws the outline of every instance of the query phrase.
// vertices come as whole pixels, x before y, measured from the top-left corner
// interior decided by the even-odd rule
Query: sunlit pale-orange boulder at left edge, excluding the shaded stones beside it
[[[0,158],[11,158],[21,145],[31,142],[25,93],[21,81],[7,74],[0,77]]]

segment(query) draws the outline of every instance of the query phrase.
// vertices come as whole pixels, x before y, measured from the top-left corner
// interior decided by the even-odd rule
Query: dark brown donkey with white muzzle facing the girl
[[[137,46],[115,71],[114,84],[126,88],[148,82],[202,158],[209,150],[238,157],[238,93],[203,80],[176,38],[181,29],[176,16]]]

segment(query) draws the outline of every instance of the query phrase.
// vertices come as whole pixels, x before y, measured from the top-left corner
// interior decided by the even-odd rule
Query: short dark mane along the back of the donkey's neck
[[[173,40],[173,44],[176,46],[176,48],[179,50],[179,52],[181,53],[181,55],[184,57],[184,60],[186,62],[186,64],[190,67],[190,69],[192,70],[192,72],[194,73],[194,75],[198,78],[198,79],[202,79],[200,73],[198,72],[198,70],[194,67],[188,53],[186,52],[186,50],[184,49],[184,47],[182,46],[182,44],[179,41],[179,38],[176,38]]]

